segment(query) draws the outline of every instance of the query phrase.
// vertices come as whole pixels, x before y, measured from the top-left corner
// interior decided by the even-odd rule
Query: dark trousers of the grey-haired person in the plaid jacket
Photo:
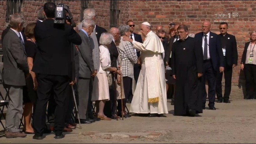
[[[123,99],[123,111],[125,111],[125,106],[126,106],[126,101],[127,98],[129,97],[130,94],[130,86],[131,83],[133,82],[133,79],[128,77],[128,76],[124,76],[123,77],[123,91],[124,91],[124,99]],[[122,112],[122,105],[121,105],[121,100],[118,100],[118,105],[117,105],[117,110],[118,113]]]

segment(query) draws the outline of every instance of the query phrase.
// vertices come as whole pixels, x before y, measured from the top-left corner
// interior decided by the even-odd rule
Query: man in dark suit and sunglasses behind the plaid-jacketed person
[[[133,32],[134,28],[135,28],[134,22],[132,20],[129,20],[129,21],[126,22],[126,25],[130,26],[130,32],[131,32],[130,38],[133,39],[134,41],[143,43],[141,35],[136,34],[135,32]],[[137,49],[134,49],[134,51],[136,51],[137,56],[139,58],[140,57],[140,51],[138,51]],[[134,74],[134,79],[135,79],[136,84],[137,84],[137,81],[138,81],[138,78],[139,78],[140,69],[141,69],[141,66],[139,64],[134,64],[133,74]],[[131,89],[130,90],[130,96],[127,98],[127,103],[128,104],[130,104],[132,102],[132,99],[133,99],[132,85],[131,85],[130,89]]]

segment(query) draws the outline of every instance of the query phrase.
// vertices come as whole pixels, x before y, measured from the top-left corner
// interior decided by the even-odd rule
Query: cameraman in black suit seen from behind
[[[54,24],[56,5],[53,2],[44,4],[46,20],[35,26],[35,39],[38,43],[38,53],[32,71],[38,80],[38,101],[35,108],[33,139],[43,139],[45,127],[45,111],[51,90],[56,102],[54,133],[55,139],[64,137],[65,113],[63,107],[69,97],[68,86],[72,69],[71,43],[80,45],[81,37],[68,24]]]

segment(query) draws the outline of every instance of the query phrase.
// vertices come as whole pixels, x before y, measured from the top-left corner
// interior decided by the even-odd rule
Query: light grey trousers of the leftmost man
[[[9,105],[7,108],[5,127],[11,133],[19,132],[20,118],[23,113],[23,86],[8,85]]]

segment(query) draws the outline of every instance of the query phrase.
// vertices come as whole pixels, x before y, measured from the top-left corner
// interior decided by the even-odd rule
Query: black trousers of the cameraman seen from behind
[[[54,100],[56,103],[54,114],[54,133],[56,135],[60,135],[65,127],[65,104],[69,96],[67,92],[67,87],[69,86],[69,77],[47,74],[37,74],[36,77],[38,81],[38,100],[34,113],[35,135],[43,135],[45,128],[45,111],[52,90],[54,92]]]

